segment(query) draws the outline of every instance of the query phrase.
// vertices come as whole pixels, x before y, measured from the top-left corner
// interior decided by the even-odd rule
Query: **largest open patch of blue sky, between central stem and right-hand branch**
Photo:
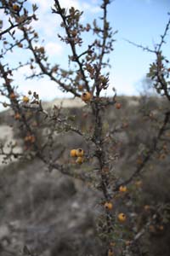
[[[140,81],[155,57],[128,44],[124,38],[153,48],[164,31],[168,11],[169,0],[122,0],[111,4],[111,24],[119,31],[112,61],[113,80],[118,92],[127,95],[138,93]],[[170,37],[167,37],[164,52],[170,57],[169,49]]]

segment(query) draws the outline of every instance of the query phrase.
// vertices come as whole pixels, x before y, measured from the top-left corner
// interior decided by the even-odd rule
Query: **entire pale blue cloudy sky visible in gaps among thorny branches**
[[[44,39],[42,45],[47,49],[49,60],[65,67],[68,46],[61,43],[57,38],[60,31],[59,18],[51,15],[50,6],[53,0],[28,0],[27,6],[37,3],[39,20],[35,23],[40,38]],[[64,7],[74,5],[84,11],[83,22],[87,23],[101,15],[99,0],[60,0]],[[139,48],[128,44],[125,39],[137,44],[143,44],[153,48],[159,42],[160,35],[164,31],[170,12],[170,0],[115,0],[109,7],[109,21],[113,30],[118,30],[115,35],[116,42],[114,51],[111,53],[111,80],[108,94],[115,87],[117,94],[138,95],[139,87],[145,74],[148,72],[150,62],[155,59],[154,55],[146,53]],[[2,19],[5,18],[0,13]],[[4,22],[5,24],[5,22]],[[170,34],[170,32],[169,32]],[[93,38],[88,36],[89,40]],[[88,40],[85,39],[85,40]],[[164,54],[170,59],[170,36],[164,45]],[[26,60],[25,50],[17,49],[8,55],[7,61],[15,65],[17,61]],[[19,85],[20,92],[26,94],[28,90],[36,90],[42,100],[52,100],[55,97],[69,96],[57,89],[56,84],[48,79],[25,80],[24,75],[30,73],[28,67],[22,68],[15,74],[15,85]]]

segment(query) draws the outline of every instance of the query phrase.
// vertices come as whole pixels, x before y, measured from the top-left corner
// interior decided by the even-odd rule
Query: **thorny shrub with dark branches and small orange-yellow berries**
[[[82,12],[71,7],[64,9],[58,0],[54,0],[52,8],[53,15],[59,15],[60,26],[65,31],[64,35],[58,35],[60,40],[69,45],[71,55],[68,56],[70,69],[65,70],[59,64],[48,62],[46,49],[41,46],[39,35],[31,26],[32,20],[37,20],[37,6],[32,4],[31,11],[26,9],[26,0],[1,0],[0,9],[8,18],[8,24],[0,20],[0,74],[1,95],[6,98],[1,102],[4,108],[11,108],[14,112],[14,122],[20,130],[23,139],[23,152],[15,151],[16,144],[10,145],[10,152],[6,152],[1,144],[0,154],[3,161],[19,159],[39,158],[48,167],[48,171],[57,170],[63,175],[75,177],[74,166],[78,166],[77,178],[84,181],[94,189],[102,191],[99,201],[100,217],[96,219],[99,237],[104,242],[105,255],[134,255],[141,253],[139,241],[141,236],[147,232],[159,232],[165,229],[168,221],[169,205],[161,204],[144,206],[144,221],[137,227],[139,215],[135,213],[138,209],[138,201],[142,191],[142,172],[150,160],[159,158],[163,160],[169,152],[170,136],[170,109],[162,108],[159,115],[147,108],[141,109],[144,119],[150,120],[155,125],[155,133],[150,143],[140,144],[138,155],[131,166],[132,172],[127,179],[118,177],[116,162],[119,155],[116,152],[118,140],[117,131],[127,129],[128,123],[122,125],[105,125],[105,114],[111,106],[116,111],[123,111],[122,102],[117,101],[116,91],[113,96],[101,96],[103,90],[109,86],[110,67],[108,57],[113,50],[114,37],[110,22],[107,19],[107,9],[110,0],[103,0],[100,8],[102,17],[94,20],[93,24],[82,24]],[[154,49],[134,44],[156,56],[156,61],[150,65],[148,77],[157,93],[170,102],[170,66],[169,61],[162,53],[162,45],[170,26],[167,22],[165,32],[161,41]],[[93,33],[94,41],[85,45],[83,35]],[[37,46],[37,43],[39,46]],[[131,42],[130,42],[131,43]],[[133,43],[131,43],[133,44]],[[82,47],[83,46],[83,47]],[[11,67],[6,61],[6,56],[15,49],[20,53],[31,52],[31,58],[26,62],[20,62],[17,67]],[[81,51],[81,49],[84,49]],[[20,67],[30,67],[31,76],[28,79],[48,77],[54,81],[60,90],[70,92],[72,96],[82,99],[86,103],[86,116],[93,119],[89,127],[82,131],[74,122],[74,116],[65,116],[61,108],[54,106],[53,112],[48,113],[42,108],[42,102],[37,92],[28,91],[25,96],[20,95],[17,86],[14,85],[13,74]],[[82,117],[82,119],[84,118]],[[40,131],[48,124],[48,137],[40,137]],[[50,128],[49,128],[50,127]],[[54,154],[55,133],[76,133],[83,138],[86,145],[84,148],[59,148]],[[62,154],[68,151],[68,162],[62,162]],[[90,172],[81,172],[87,163]],[[76,168],[76,167],[75,167]],[[50,174],[49,174],[50,175]],[[116,205],[122,205],[124,211],[119,211]],[[167,215],[166,215],[167,214]],[[26,250],[26,248],[25,248]],[[28,250],[28,249],[27,249]],[[30,253],[31,254],[31,253]],[[141,254],[140,254],[141,255]]]

